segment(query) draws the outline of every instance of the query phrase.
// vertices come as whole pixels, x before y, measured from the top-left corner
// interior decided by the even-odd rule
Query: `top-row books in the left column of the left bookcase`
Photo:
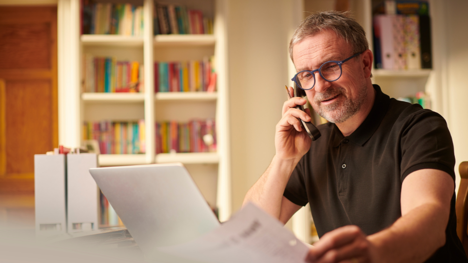
[[[143,36],[143,6],[82,0],[81,34]]]

